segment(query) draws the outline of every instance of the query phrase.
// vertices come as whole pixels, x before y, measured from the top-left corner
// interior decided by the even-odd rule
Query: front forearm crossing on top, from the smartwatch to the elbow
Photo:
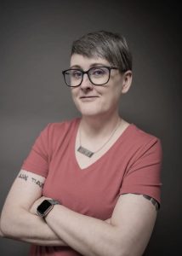
[[[46,222],[61,239],[82,255],[122,255],[117,228],[105,221],[55,206],[48,213]]]

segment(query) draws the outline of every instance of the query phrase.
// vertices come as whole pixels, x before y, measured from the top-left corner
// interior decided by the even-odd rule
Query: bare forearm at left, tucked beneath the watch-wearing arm
[[[4,212],[1,218],[1,232],[3,237],[37,245],[66,246],[42,218],[25,209],[16,210],[14,215]]]

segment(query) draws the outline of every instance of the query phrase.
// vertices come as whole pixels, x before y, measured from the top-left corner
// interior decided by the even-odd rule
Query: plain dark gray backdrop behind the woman
[[[177,254],[182,228],[179,6],[115,0],[1,1],[0,6],[0,207],[43,127],[78,114],[61,75],[72,40],[100,29],[120,32],[134,55],[134,82],[122,97],[122,116],[160,137],[163,146],[162,207],[145,255]],[[26,243],[0,239],[1,255],[26,255],[28,249]]]

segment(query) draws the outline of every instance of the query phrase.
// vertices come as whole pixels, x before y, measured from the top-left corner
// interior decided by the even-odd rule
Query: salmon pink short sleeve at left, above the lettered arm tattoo
[[[30,154],[21,166],[21,169],[43,177],[48,175],[48,126],[37,137]]]

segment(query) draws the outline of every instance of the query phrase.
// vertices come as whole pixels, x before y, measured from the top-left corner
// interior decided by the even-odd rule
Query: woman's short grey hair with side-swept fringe
[[[132,55],[127,41],[114,32],[89,32],[73,42],[71,55],[84,55],[88,58],[101,57],[117,67],[120,72],[132,70]]]

